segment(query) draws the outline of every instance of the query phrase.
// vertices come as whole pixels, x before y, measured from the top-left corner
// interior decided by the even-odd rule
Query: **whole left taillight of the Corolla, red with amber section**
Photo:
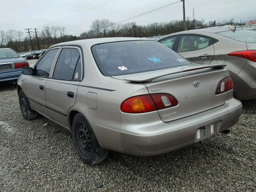
[[[170,94],[140,95],[128,98],[121,104],[125,113],[146,113],[178,105],[178,101]]]

